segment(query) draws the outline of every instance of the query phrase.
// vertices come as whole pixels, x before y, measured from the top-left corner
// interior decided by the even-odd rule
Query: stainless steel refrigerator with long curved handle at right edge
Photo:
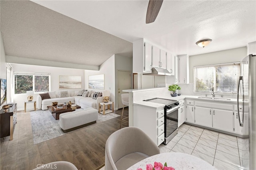
[[[248,55],[240,63],[241,76],[238,81],[237,106],[239,125],[245,126],[244,110],[249,107],[249,138],[238,143],[238,148],[245,154],[240,154],[240,163],[246,170],[256,170],[256,55]],[[241,97],[242,96],[242,97]],[[242,104],[241,104],[242,100]],[[240,145],[240,146],[239,146]]]

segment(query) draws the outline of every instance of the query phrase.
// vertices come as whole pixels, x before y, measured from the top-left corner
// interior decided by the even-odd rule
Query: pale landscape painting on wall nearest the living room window
[[[81,76],[59,76],[59,88],[82,88]]]

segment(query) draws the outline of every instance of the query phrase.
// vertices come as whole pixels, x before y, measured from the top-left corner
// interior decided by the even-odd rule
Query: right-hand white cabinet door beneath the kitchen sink
[[[222,131],[234,132],[233,111],[212,109],[212,127]]]

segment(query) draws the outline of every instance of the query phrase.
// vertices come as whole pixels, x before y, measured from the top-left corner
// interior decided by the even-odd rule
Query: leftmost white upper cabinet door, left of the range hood
[[[152,45],[144,43],[144,71],[151,72],[152,68]]]

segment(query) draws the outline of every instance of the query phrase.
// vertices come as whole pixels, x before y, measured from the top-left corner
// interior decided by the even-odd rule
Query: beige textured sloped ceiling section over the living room
[[[0,1],[6,55],[99,66],[132,43],[31,1]]]

